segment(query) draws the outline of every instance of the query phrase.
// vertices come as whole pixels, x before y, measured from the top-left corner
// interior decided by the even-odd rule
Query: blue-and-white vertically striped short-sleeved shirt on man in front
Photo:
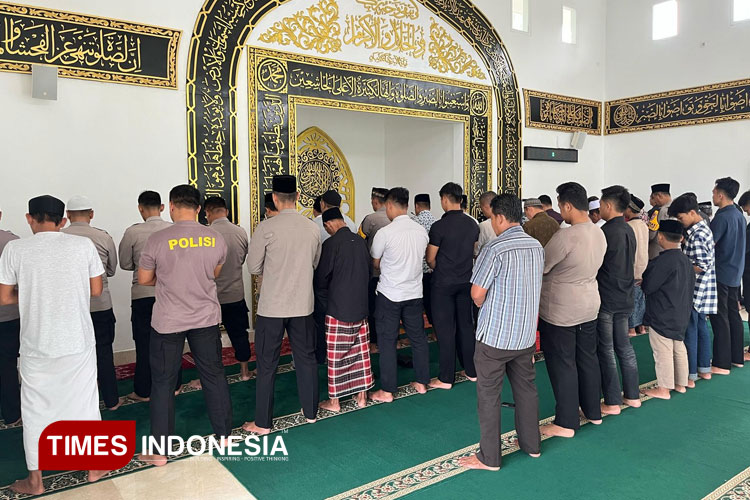
[[[513,226],[487,243],[471,282],[487,290],[476,338],[495,349],[520,351],[536,342],[544,249]]]

